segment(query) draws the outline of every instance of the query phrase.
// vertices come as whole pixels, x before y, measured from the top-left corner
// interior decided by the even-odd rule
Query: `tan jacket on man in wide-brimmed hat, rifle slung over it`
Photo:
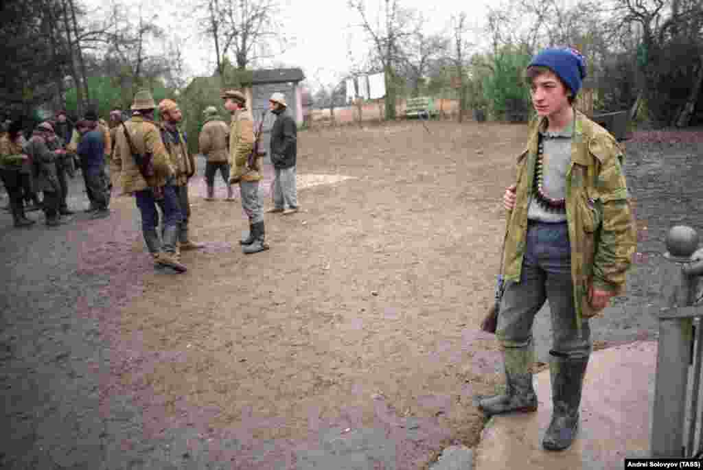
[[[139,167],[137,167],[134,157],[132,157],[127,137],[124,135],[124,129],[122,126],[118,127],[117,131],[115,131],[115,151],[112,152],[110,170],[112,175],[120,175],[122,192],[131,194],[146,188],[157,188],[165,185],[167,178],[173,176],[175,171],[164,143],[161,141],[161,134],[156,124],[137,115],[125,122],[124,127],[129,132],[135,152],[139,152],[142,155],[150,152],[153,155],[152,161],[155,175],[148,178],[148,180],[141,176]]]

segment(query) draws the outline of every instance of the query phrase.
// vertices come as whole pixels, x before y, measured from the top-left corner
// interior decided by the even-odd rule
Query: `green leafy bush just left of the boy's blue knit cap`
[[[520,48],[504,46],[491,59],[493,73],[484,77],[483,89],[492,114],[498,119],[527,117],[530,97],[522,77],[531,55]]]

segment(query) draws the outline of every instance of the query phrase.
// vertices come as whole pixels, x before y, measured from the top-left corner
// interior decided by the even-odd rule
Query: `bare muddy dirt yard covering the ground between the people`
[[[478,325],[527,127],[428,127],[301,131],[302,210],[266,214],[271,249],[250,256],[239,201],[219,179],[221,199],[203,200],[199,171],[205,249],[183,253],[183,275],[153,269],[131,197],[53,230],[0,216],[3,468],[409,470],[475,445],[472,397],[503,380]],[[699,144],[627,145],[633,195],[650,200],[629,293],[593,320],[601,347],[653,337],[639,309],[658,292],[665,230],[699,201],[700,185],[678,185],[666,202],[701,176]]]

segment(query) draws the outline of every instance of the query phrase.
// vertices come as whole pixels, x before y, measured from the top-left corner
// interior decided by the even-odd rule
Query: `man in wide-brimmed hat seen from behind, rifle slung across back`
[[[144,241],[156,265],[183,273],[186,266],[176,257],[182,216],[173,184],[175,172],[154,122],[155,108],[156,103],[148,90],[134,95],[131,119],[115,132],[117,142],[112,155],[112,174],[120,174],[122,192],[134,195],[141,212]],[[151,165],[138,164],[135,155],[144,161],[150,156]],[[157,204],[163,214],[162,240],[156,230],[159,220]]]

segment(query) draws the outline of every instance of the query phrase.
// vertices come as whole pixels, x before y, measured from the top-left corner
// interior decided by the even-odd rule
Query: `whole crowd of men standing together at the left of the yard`
[[[259,132],[254,130],[242,92],[228,89],[221,98],[232,115],[231,124],[225,124],[217,107],[209,106],[203,112],[205,124],[198,136],[200,154],[207,157],[205,200],[214,201],[217,171],[226,183],[227,201],[235,200],[232,185],[238,183],[249,220],[249,235],[240,244],[245,254],[262,252],[269,249],[269,244],[265,241],[264,210],[259,196],[266,155],[256,150],[261,126]],[[160,122],[155,122],[157,108]],[[295,214],[299,210],[297,126],[287,108],[283,93],[273,93],[269,110],[276,115],[276,121],[271,129],[270,157],[275,176],[271,188],[273,207],[267,213]],[[109,123],[95,112],[86,112],[84,119],[71,129],[65,112],[58,112],[53,122],[38,124],[29,140],[22,135],[21,120],[7,122],[0,136],[0,176],[10,198],[15,227],[35,223],[25,214],[25,200],[44,210],[46,226],[65,223],[63,216],[73,214],[66,202],[67,177],[75,176],[77,164],[84,177],[91,204],[86,212],[91,212],[91,218],[110,215],[115,181],[123,194],[135,198],[144,241],[155,266],[185,272],[181,250],[203,245],[193,242],[189,235],[188,182],[196,167],[186,133],[179,128],[182,119],[174,100],[165,99],[156,105],[151,93],[141,90],[134,95],[131,118],[126,121],[119,109],[110,112]],[[41,202],[39,192],[43,195]]]

